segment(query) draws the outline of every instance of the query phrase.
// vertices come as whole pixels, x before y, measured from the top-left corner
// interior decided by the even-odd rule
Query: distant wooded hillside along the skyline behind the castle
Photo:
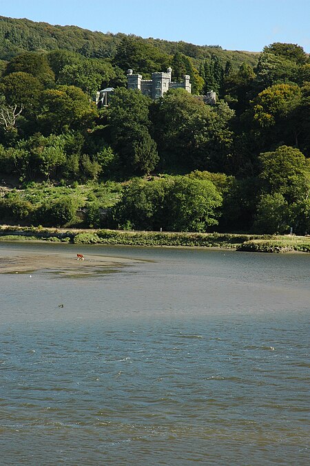
[[[103,26],[104,27],[104,26]],[[108,28],[108,25],[107,25]],[[70,50],[87,58],[113,59],[118,45],[126,34],[92,32],[74,25],[51,25],[36,23],[29,19],[0,17],[0,59],[9,61],[21,52]],[[257,53],[223,50],[220,46],[194,45],[183,41],[172,42],[161,39],[143,39],[130,35],[132,39],[149,47],[156,47],[163,54],[174,55],[180,52],[196,62],[217,56],[220,61],[231,61],[234,69],[241,63],[256,65]]]

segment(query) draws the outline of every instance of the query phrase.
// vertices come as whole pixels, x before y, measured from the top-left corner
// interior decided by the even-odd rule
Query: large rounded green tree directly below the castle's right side
[[[225,103],[205,105],[184,89],[165,93],[154,108],[154,134],[166,167],[223,171],[234,112]]]

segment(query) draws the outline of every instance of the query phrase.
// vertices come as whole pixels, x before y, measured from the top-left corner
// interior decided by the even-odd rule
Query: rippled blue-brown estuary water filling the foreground
[[[1,466],[309,464],[309,254],[0,244],[77,252],[0,274]]]

